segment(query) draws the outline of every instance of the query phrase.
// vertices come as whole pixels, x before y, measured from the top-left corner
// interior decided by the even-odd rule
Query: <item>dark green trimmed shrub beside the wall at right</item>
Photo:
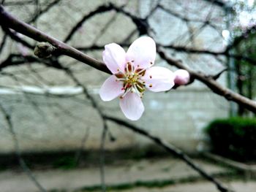
[[[256,119],[228,118],[206,128],[212,151],[238,161],[256,160]]]

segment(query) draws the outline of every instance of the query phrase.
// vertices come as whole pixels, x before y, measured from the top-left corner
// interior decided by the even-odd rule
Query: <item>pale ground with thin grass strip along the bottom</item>
[[[244,180],[243,174],[205,159],[195,159],[206,172],[222,180],[235,191],[255,192],[255,180]],[[100,191],[99,166],[79,169],[34,170],[39,183],[48,191]],[[217,192],[212,183],[176,158],[151,158],[119,161],[105,165],[107,191],[206,191]],[[0,172],[1,192],[38,191],[24,172]]]

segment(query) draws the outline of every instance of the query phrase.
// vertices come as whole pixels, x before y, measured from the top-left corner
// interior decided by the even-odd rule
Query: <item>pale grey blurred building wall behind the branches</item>
[[[47,14],[42,15],[34,25],[42,31],[48,32],[58,39],[64,39],[70,26],[78,22],[86,12],[98,7],[105,1],[68,1],[64,0],[53,7]],[[113,1],[120,5],[126,1]],[[151,12],[156,1],[129,1],[127,11],[141,17]],[[43,3],[43,1],[42,1]],[[151,16],[150,24],[156,33],[151,33],[157,42],[187,46],[197,49],[222,50],[222,37],[220,36],[223,11],[221,8],[206,1],[162,1],[162,5],[175,12],[174,15],[192,18],[195,21],[189,24],[167,12],[158,10]],[[29,11],[34,7],[7,7],[14,15],[22,20],[29,20]],[[198,9],[202,10],[198,12]],[[207,16],[211,12],[211,16]],[[198,20],[209,17],[214,21],[216,28],[201,28]],[[54,20],[51,22],[49,20]],[[200,29],[200,30],[199,30]],[[86,22],[75,34],[69,45],[86,47],[93,44],[105,45],[110,42],[121,42],[132,34],[129,42],[138,37],[138,33],[132,33],[135,25],[132,20],[116,12],[105,12]],[[188,35],[187,31],[194,31]],[[102,35],[100,35],[103,33]],[[0,34],[1,36],[3,34]],[[27,39],[26,37],[23,37]],[[29,39],[29,41],[31,41]],[[32,42],[32,41],[31,41]],[[20,53],[18,45],[9,39],[4,46],[4,52],[0,55],[0,61],[4,61],[10,53]],[[101,59],[101,51],[88,51],[89,55]],[[192,55],[169,50],[175,58],[181,58],[185,64],[195,70],[216,74],[223,69],[222,63],[211,55]],[[29,50],[29,54],[31,50]],[[223,59],[223,58],[219,58]],[[70,66],[75,76],[83,85],[89,88],[92,96],[99,102],[102,110],[118,118],[124,118],[118,107],[118,99],[103,102],[99,99],[99,88],[108,77],[96,69],[91,69],[85,64],[80,64],[71,58],[61,57],[65,66]],[[157,58],[157,66],[167,66],[165,62]],[[36,71],[36,72],[35,72]],[[1,76],[0,94],[1,105],[12,115],[15,133],[18,135],[20,148],[23,151],[43,150],[72,150],[80,147],[81,140],[86,139],[86,149],[97,149],[100,146],[102,134],[102,122],[97,111],[91,107],[88,99],[84,99],[81,89],[67,75],[58,69],[51,69],[42,64],[8,67],[4,72],[10,72],[18,77]],[[225,74],[219,80],[225,85]],[[14,89],[15,88],[15,89]],[[55,89],[54,89],[55,88]],[[72,96],[45,96],[45,90],[57,93],[66,88]],[[54,92],[54,90],[56,92]],[[25,91],[25,93],[24,93]],[[145,128],[167,142],[173,143],[185,150],[195,152],[205,150],[207,141],[203,134],[203,128],[214,118],[225,118],[228,115],[229,104],[225,99],[211,93],[200,82],[178,88],[167,93],[149,93],[143,98],[146,111],[143,117],[130,122]],[[131,146],[145,146],[150,144],[147,139],[140,137],[125,128],[109,122],[110,131],[115,142],[107,141],[109,149],[120,149]],[[13,151],[13,142],[8,130],[4,115],[0,113],[0,153]]]

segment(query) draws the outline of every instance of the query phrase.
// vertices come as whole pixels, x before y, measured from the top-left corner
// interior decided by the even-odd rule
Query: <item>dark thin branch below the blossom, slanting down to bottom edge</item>
[[[217,186],[219,191],[222,192],[228,192],[230,191],[228,188],[222,185],[222,183],[219,183],[219,181],[215,180],[214,177],[211,177],[207,172],[205,172],[203,169],[200,169],[200,166],[195,164],[191,158],[189,158],[186,154],[184,154],[181,150],[176,148],[173,145],[170,145],[169,143],[165,142],[164,140],[160,139],[159,137],[155,137],[154,135],[151,135],[148,133],[148,131],[145,131],[141,128],[138,128],[137,126],[133,126],[130,123],[127,123],[124,120],[120,120],[118,118],[113,118],[110,116],[105,115],[105,119],[111,120],[118,125],[125,126],[126,128],[129,128],[130,130],[134,131],[137,134],[143,135],[144,137],[147,137],[148,139],[151,139],[153,142],[155,142],[157,145],[163,147],[167,152],[175,155],[178,158],[181,158],[181,160],[185,161],[187,165],[189,165],[192,169],[195,169],[196,172],[200,173],[203,177],[205,177],[207,180],[214,183],[214,185]]]

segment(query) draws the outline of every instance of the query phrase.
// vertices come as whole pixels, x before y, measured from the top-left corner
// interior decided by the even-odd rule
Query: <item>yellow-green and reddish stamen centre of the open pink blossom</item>
[[[134,62],[134,61],[132,61]],[[132,93],[137,93],[140,98],[143,97],[143,92],[145,89],[145,82],[141,80],[141,77],[144,76],[146,69],[141,69],[139,66],[134,67],[130,62],[127,63],[127,66],[123,73],[116,74],[118,77],[117,80],[124,82],[122,90],[124,93],[120,98],[124,98],[124,96],[131,91]]]

